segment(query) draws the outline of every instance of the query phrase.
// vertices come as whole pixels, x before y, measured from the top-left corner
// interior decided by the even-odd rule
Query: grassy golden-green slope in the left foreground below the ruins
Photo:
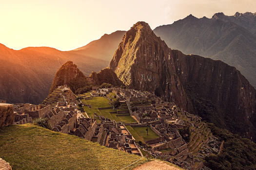
[[[0,129],[0,157],[13,170],[120,170],[141,158],[32,124]]]

